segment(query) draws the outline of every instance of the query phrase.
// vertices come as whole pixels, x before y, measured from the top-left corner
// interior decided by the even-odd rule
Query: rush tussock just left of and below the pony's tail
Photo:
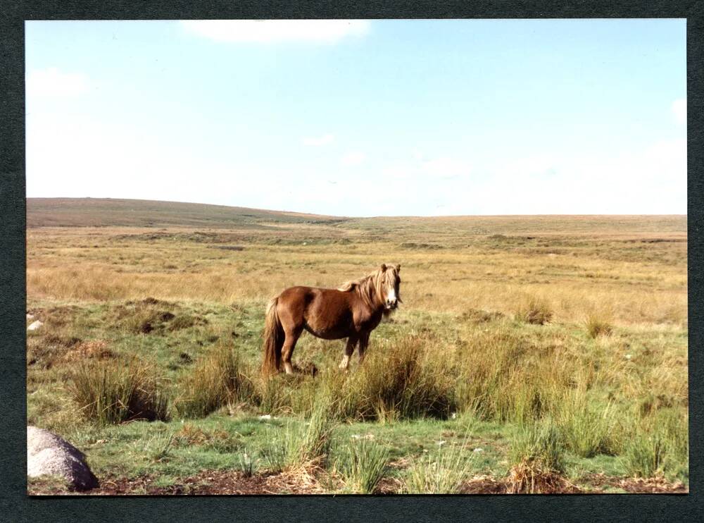
[[[180,416],[204,417],[234,399],[249,398],[253,383],[230,347],[218,345],[179,384],[175,402]]]

